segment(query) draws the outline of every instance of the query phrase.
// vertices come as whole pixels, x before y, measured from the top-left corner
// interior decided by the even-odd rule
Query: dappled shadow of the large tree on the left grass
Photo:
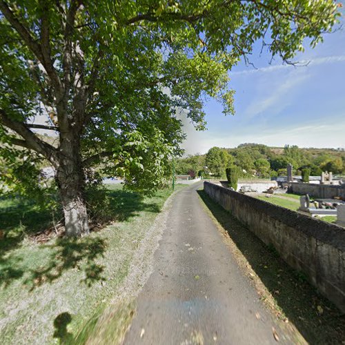
[[[154,202],[145,201],[139,193],[130,193],[121,189],[108,190],[106,193],[110,197],[110,220],[127,221],[143,210],[152,213],[159,213],[161,210]],[[58,238],[40,244],[39,250],[48,249],[49,259],[39,268],[31,269],[28,268],[25,257],[11,250],[19,248],[27,235],[47,227],[51,215],[30,205],[27,208],[12,207],[8,213],[1,212],[0,208],[0,221],[2,229],[7,231],[6,237],[0,239],[0,286],[6,288],[12,281],[22,279],[25,275],[23,284],[27,284],[32,290],[45,282],[53,282],[71,268],[83,270],[85,273],[83,282],[88,286],[103,279],[104,267],[95,262],[95,259],[103,256],[106,248],[103,239],[95,236],[81,239]]]

